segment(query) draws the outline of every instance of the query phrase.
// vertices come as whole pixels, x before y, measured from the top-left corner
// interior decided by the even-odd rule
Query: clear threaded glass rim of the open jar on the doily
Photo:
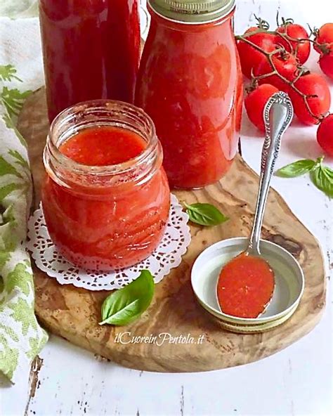
[[[79,114],[79,112],[86,112],[87,110],[103,110],[106,108],[107,110],[112,110],[117,114],[125,114],[127,113],[137,113],[147,123],[150,128],[150,134],[147,141],[147,147],[136,157],[133,157],[125,162],[119,164],[106,164],[106,165],[98,165],[98,166],[91,166],[87,164],[81,164],[72,160],[70,157],[64,155],[60,152],[57,143],[53,141],[53,138],[57,136],[56,129],[61,124],[65,124],[69,122],[70,119],[75,117],[75,115]],[[118,112],[116,111],[118,109]],[[112,115],[110,115],[112,117]],[[106,119],[105,119],[106,120]],[[98,124],[98,121],[96,122]],[[122,124],[117,124],[115,122],[112,123],[110,120],[110,125],[119,125],[123,129],[126,129]],[[129,129],[129,128],[127,128]],[[129,129],[131,130],[131,129]],[[68,138],[73,136],[75,133],[70,134]],[[143,137],[144,138],[144,137]],[[145,139],[145,138],[144,138]],[[61,144],[61,143],[60,143]],[[99,100],[87,100],[82,101],[80,103],[74,104],[71,107],[65,108],[62,112],[60,112],[53,122],[51,123],[49,133],[46,139],[46,146],[44,149],[44,164],[45,164],[45,153],[46,149],[55,157],[57,162],[61,164],[62,167],[65,169],[69,169],[70,171],[76,174],[89,174],[89,175],[97,175],[97,176],[112,176],[112,175],[119,175],[119,174],[126,174],[127,172],[131,171],[138,167],[138,165],[144,164],[148,162],[151,157],[153,157],[157,146],[159,145],[159,140],[156,136],[155,124],[152,122],[152,119],[149,115],[144,112],[141,108],[136,107],[136,105],[125,103],[119,100],[107,100],[107,99],[99,99]]]

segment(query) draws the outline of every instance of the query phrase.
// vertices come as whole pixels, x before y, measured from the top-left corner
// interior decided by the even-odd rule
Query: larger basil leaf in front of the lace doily
[[[152,274],[143,270],[141,275],[122,289],[108,296],[102,305],[102,322],[110,325],[127,325],[141,316],[154,295]]]

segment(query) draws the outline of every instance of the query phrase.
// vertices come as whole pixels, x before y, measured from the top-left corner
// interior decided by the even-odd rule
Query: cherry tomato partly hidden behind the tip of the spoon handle
[[[259,130],[265,131],[263,123],[263,109],[269,98],[279,90],[270,84],[261,84],[257,89],[249,93],[244,100],[245,109],[250,121],[258,127]]]

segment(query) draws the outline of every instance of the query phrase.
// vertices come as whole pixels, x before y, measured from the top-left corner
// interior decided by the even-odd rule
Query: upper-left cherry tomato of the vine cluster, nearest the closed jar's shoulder
[[[250,27],[245,34],[259,30],[258,27]],[[247,37],[249,41],[262,48],[266,52],[275,50],[275,35],[266,32],[260,32]],[[237,49],[240,55],[240,63],[242,65],[242,72],[247,78],[251,78],[252,69],[256,68],[262,60],[266,59],[260,51],[257,51],[253,46],[247,44],[245,41],[237,42]]]

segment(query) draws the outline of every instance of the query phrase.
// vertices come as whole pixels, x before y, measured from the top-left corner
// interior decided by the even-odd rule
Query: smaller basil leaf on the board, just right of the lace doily
[[[192,223],[200,224],[200,226],[217,226],[228,220],[228,217],[211,204],[197,204],[188,205],[184,203],[186,212],[190,217]]]

